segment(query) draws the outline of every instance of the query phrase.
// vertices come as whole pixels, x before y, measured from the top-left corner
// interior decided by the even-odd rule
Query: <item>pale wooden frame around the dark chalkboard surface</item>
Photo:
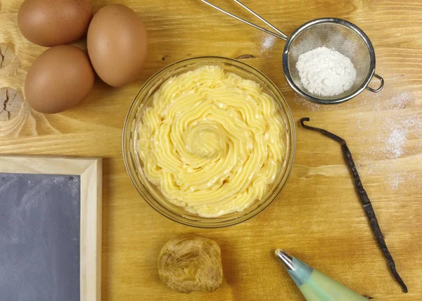
[[[101,158],[0,155],[0,173],[80,177],[80,301],[101,301]]]

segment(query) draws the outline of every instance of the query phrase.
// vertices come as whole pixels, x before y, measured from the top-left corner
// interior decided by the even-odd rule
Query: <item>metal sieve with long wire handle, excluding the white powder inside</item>
[[[300,26],[290,37],[288,37],[286,34],[274,27],[274,25],[271,25],[271,23],[238,0],[234,0],[234,2],[242,6],[242,8],[249,13],[252,13],[252,15],[255,15],[256,18],[271,27],[271,29],[275,32],[271,32],[264,27],[260,27],[247,20],[239,18],[228,11],[224,11],[222,8],[215,6],[214,4],[210,4],[208,1],[200,1],[217,9],[217,11],[235,18],[236,20],[286,41],[283,51],[284,75],[290,87],[308,101],[322,104],[343,103],[344,101],[348,101],[350,98],[357,96],[364,91],[364,89],[368,89],[369,91],[376,93],[381,91],[384,87],[384,79],[375,73],[375,51],[373,51],[373,46],[369,37],[366,36],[359,27],[346,20],[338,18],[321,18],[312,20]],[[350,58],[354,68],[356,69],[357,76],[354,80],[354,84],[350,87],[350,89],[344,91],[342,94],[336,96],[321,96],[318,94],[312,94],[307,91],[307,89],[303,87],[302,82],[300,82],[299,72],[296,68],[299,56],[302,53],[321,46],[326,46],[328,49],[338,51],[347,56]],[[376,89],[369,87],[369,82],[371,82],[372,77],[376,77],[380,80],[380,85]]]

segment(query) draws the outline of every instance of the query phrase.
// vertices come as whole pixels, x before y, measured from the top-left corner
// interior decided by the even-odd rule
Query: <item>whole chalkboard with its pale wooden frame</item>
[[[101,159],[0,155],[0,301],[101,300]]]

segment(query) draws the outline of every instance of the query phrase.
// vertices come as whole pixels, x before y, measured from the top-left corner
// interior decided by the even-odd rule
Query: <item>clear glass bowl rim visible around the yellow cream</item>
[[[139,134],[137,128],[141,121],[143,111],[145,108],[148,108],[148,106],[151,106],[151,96],[153,96],[153,94],[160,89],[160,85],[167,81],[167,79],[170,79],[170,77],[177,76],[190,70],[195,70],[204,65],[217,65],[226,72],[232,72],[240,77],[252,79],[259,83],[262,90],[276,101],[283,121],[286,124],[286,132],[283,133],[283,141],[286,143],[286,158],[276,175],[274,184],[271,184],[262,200],[255,200],[250,207],[242,212],[234,212],[221,217],[200,217],[198,214],[187,212],[183,207],[170,203],[167,198],[162,195],[160,188],[146,179],[146,176],[143,173],[143,163],[138,153]],[[129,174],[132,183],[141,197],[146,200],[151,207],[165,217],[172,219],[174,222],[200,228],[220,228],[245,222],[245,220],[254,217],[271,204],[279,195],[284,184],[286,184],[290,170],[293,167],[295,144],[296,136],[293,117],[285,99],[276,85],[273,84],[268,77],[255,68],[252,68],[250,65],[231,58],[211,56],[181,60],[155,73],[153,77],[148,79],[139,93],[135,96],[134,101],[129,108],[129,113],[124,122],[123,129],[124,164],[126,165],[127,173]]]

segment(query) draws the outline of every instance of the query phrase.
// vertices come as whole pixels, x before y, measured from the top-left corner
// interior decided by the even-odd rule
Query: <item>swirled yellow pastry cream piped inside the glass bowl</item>
[[[285,124],[260,85],[217,66],[167,80],[138,127],[149,181],[201,217],[261,200],[285,158]]]

